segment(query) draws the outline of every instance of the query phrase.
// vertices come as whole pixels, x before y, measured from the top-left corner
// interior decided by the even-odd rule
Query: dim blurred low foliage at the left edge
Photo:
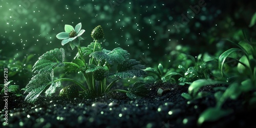
[[[2,50],[0,50],[0,53]],[[8,76],[8,81],[6,83],[0,84],[2,95],[8,95],[7,92],[12,93],[16,96],[22,96],[22,92],[25,90],[23,83],[26,83],[31,77],[32,65],[30,64],[31,59],[34,55],[28,55],[20,61],[20,54],[14,55],[12,58],[6,56],[0,56],[0,72],[4,73],[4,69],[8,69],[6,76]],[[4,75],[0,77],[5,79]],[[14,84],[10,84],[11,82]],[[5,86],[7,85],[7,86]],[[7,88],[8,87],[8,90]],[[20,89],[22,88],[22,89]]]

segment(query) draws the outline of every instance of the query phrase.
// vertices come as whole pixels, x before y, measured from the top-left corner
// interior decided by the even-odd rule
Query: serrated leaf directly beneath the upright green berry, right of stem
[[[123,63],[123,61],[128,59],[129,53],[122,48],[115,48],[111,52],[102,50],[102,52],[93,52],[90,54],[97,61],[105,60],[109,65],[113,65],[114,63]]]

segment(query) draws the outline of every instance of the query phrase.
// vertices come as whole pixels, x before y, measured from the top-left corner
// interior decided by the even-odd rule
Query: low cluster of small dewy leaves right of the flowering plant
[[[191,84],[198,79],[218,76],[220,73],[216,72],[218,70],[217,63],[218,60],[208,54],[200,54],[195,58],[179,53],[169,69],[163,68],[161,63],[156,69],[146,68],[145,71],[149,72],[151,76],[146,77],[145,80],[179,82],[180,85]]]

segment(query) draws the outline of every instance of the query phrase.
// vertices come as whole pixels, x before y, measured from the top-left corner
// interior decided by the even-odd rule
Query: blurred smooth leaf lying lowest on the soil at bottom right
[[[222,110],[220,108],[208,108],[199,116],[198,124],[202,124],[205,121],[216,121],[231,113],[232,113],[232,110]]]

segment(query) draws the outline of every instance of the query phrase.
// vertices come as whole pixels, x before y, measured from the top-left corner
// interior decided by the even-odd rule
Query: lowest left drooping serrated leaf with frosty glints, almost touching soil
[[[42,71],[36,74],[31,78],[29,83],[26,86],[26,91],[24,93],[29,93],[25,101],[35,102],[38,96],[49,86],[52,88],[55,87],[55,83],[53,82],[53,70],[52,71]],[[51,91],[47,93],[47,95],[51,95]]]

